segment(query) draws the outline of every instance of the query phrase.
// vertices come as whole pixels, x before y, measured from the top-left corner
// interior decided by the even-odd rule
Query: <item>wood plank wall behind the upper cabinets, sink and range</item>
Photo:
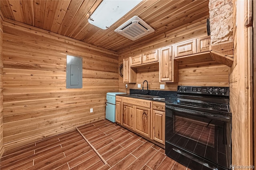
[[[191,24],[186,28],[177,28],[176,31],[161,41],[158,40],[139,46],[129,52],[120,53],[119,65],[123,63],[124,58],[132,55],[199,36],[207,36],[206,19]],[[229,67],[213,61],[210,56],[200,60],[181,61],[178,65],[178,83],[159,83],[159,66],[154,64],[137,69],[137,83],[123,83],[123,78],[119,76],[119,91],[126,92],[125,84],[128,84],[128,93],[129,89],[142,89],[144,80],[148,81],[150,90],[160,90],[160,84],[164,84],[164,90],[167,91],[176,91],[178,85],[228,87]],[[141,88],[137,88],[137,84],[141,84]]]

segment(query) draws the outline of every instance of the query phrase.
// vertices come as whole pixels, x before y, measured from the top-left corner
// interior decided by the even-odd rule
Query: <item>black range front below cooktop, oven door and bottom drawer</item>
[[[231,117],[166,105],[165,130],[167,156],[191,169],[230,169]]]

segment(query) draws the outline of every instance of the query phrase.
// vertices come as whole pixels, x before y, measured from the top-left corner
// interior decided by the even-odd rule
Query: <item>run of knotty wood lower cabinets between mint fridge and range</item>
[[[165,103],[131,97],[116,101],[116,123],[164,148]]]

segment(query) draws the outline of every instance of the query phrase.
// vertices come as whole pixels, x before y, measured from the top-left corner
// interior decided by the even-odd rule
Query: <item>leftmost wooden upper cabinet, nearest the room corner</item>
[[[130,59],[123,59],[123,82],[124,83],[136,83],[136,71],[130,67]]]

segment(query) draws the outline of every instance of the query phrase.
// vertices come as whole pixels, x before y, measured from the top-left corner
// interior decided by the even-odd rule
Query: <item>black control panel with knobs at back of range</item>
[[[178,93],[197,93],[206,95],[229,95],[229,87],[211,87],[211,86],[178,86]]]

